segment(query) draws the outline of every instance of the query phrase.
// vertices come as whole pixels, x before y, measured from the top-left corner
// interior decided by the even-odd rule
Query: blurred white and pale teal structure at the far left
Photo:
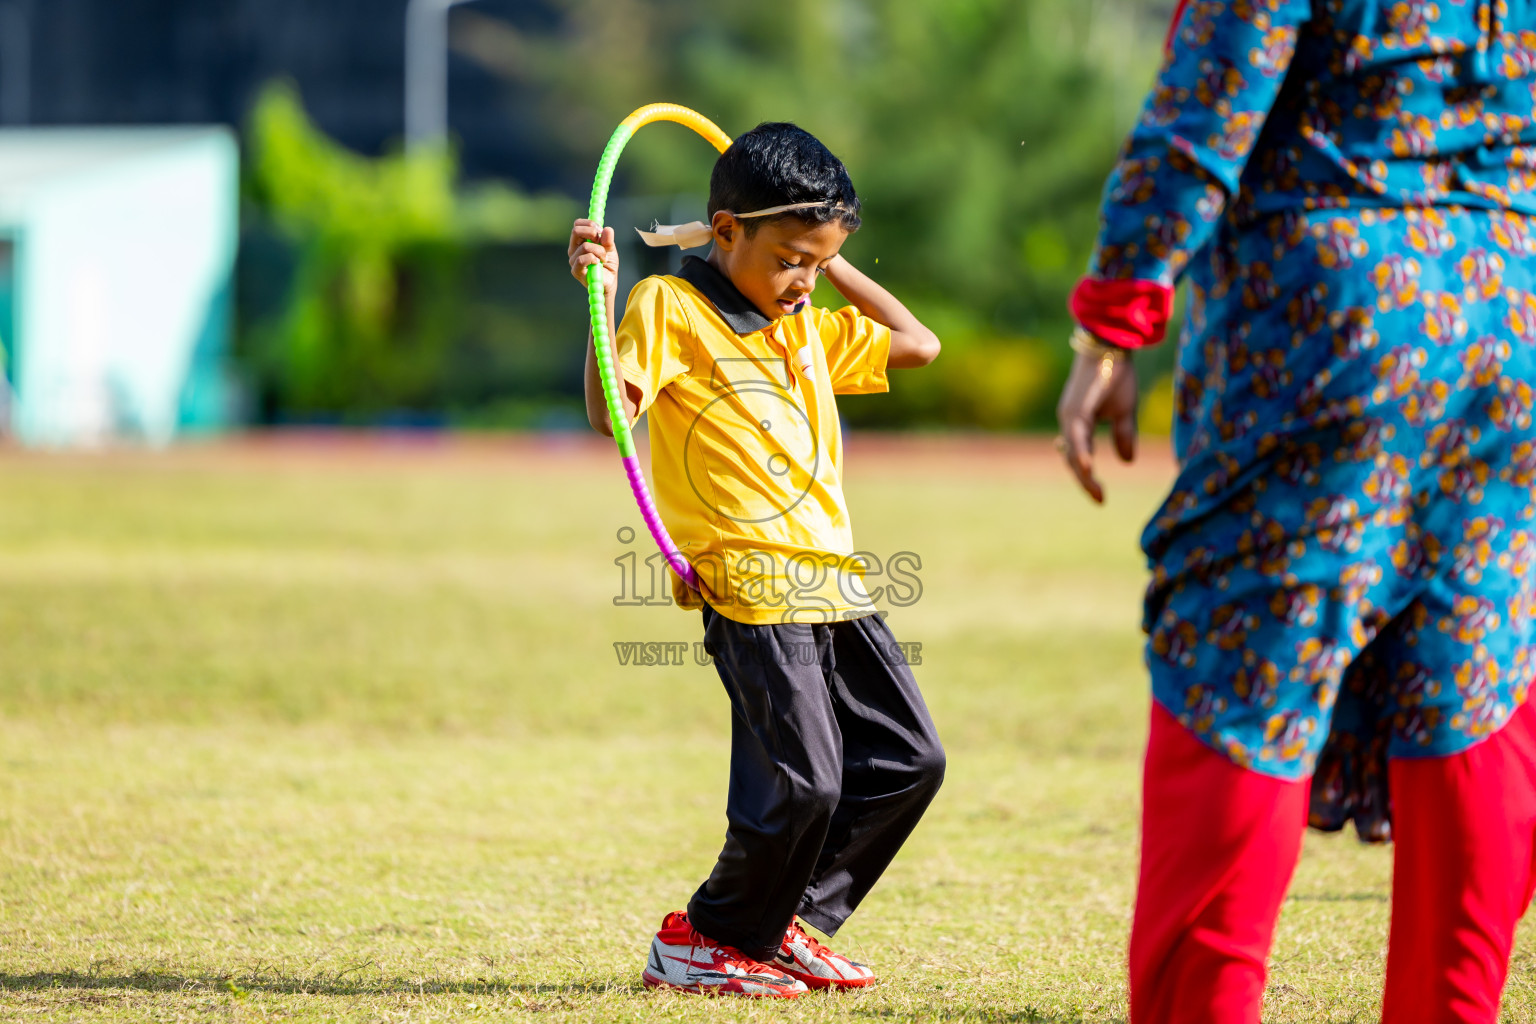
[[[3,132],[12,424],[28,444],[161,444],[232,411],[238,152],[220,129]]]

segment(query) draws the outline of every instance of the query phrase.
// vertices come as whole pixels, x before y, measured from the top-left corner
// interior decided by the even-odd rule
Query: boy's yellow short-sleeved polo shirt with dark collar
[[[677,603],[751,625],[871,614],[833,396],[888,390],[891,329],[851,306],[770,321],[688,256],[634,286],[617,347],[650,411],[656,507],[699,573],[700,593],[673,574]]]

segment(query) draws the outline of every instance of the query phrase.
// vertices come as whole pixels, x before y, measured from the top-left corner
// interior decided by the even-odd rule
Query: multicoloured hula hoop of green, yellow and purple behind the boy
[[[637,129],[654,121],[685,124],[699,132],[699,135],[703,135],[722,154],[731,144],[730,135],[696,111],[677,106],[676,103],[650,103],[642,106],[619,123],[619,127],[614,129],[613,137],[608,138],[608,144],[602,150],[602,160],[598,161],[598,177],[591,183],[591,209],[588,216],[599,230],[602,230],[602,215],[608,207],[608,186],[613,183],[613,169],[619,163],[619,154],[624,152],[625,144]],[[619,457],[624,462],[625,474],[630,477],[630,491],[634,493],[634,504],[641,507],[641,516],[645,517],[645,525],[651,531],[656,547],[667,556],[667,563],[671,565],[673,573],[682,577],[682,582],[693,590],[699,590],[699,576],[688,565],[688,559],[682,557],[682,551],[677,550],[677,545],[673,543],[671,536],[667,533],[667,525],[662,522],[660,513],[656,511],[656,502],[651,499],[651,490],[645,485],[645,474],[641,471],[641,457],[634,454],[634,438],[630,433],[630,419],[624,415],[619,378],[613,367],[613,350],[608,341],[608,302],[602,289],[602,267],[598,264],[587,267],[587,309],[591,313],[591,339],[593,350],[598,355],[598,376],[602,378],[602,398],[608,405],[608,422],[613,424],[613,439],[619,445]]]

